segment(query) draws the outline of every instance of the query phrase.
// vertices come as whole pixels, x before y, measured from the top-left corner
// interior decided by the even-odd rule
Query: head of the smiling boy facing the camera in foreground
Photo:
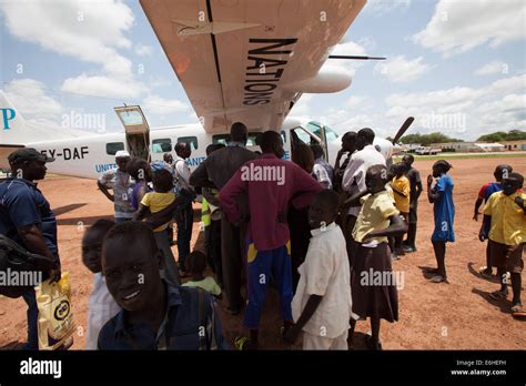
[[[108,291],[122,308],[141,311],[162,291],[162,255],[153,231],[128,221],[113,226],[102,243],[102,272]]]

